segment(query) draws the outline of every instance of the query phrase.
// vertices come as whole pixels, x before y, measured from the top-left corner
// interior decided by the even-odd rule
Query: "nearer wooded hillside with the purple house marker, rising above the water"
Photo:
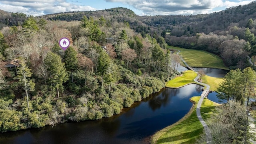
[[[65,51],[62,37],[70,40]],[[176,76],[179,59],[164,47],[104,16],[70,22],[30,16],[3,27],[1,132],[119,114]]]

